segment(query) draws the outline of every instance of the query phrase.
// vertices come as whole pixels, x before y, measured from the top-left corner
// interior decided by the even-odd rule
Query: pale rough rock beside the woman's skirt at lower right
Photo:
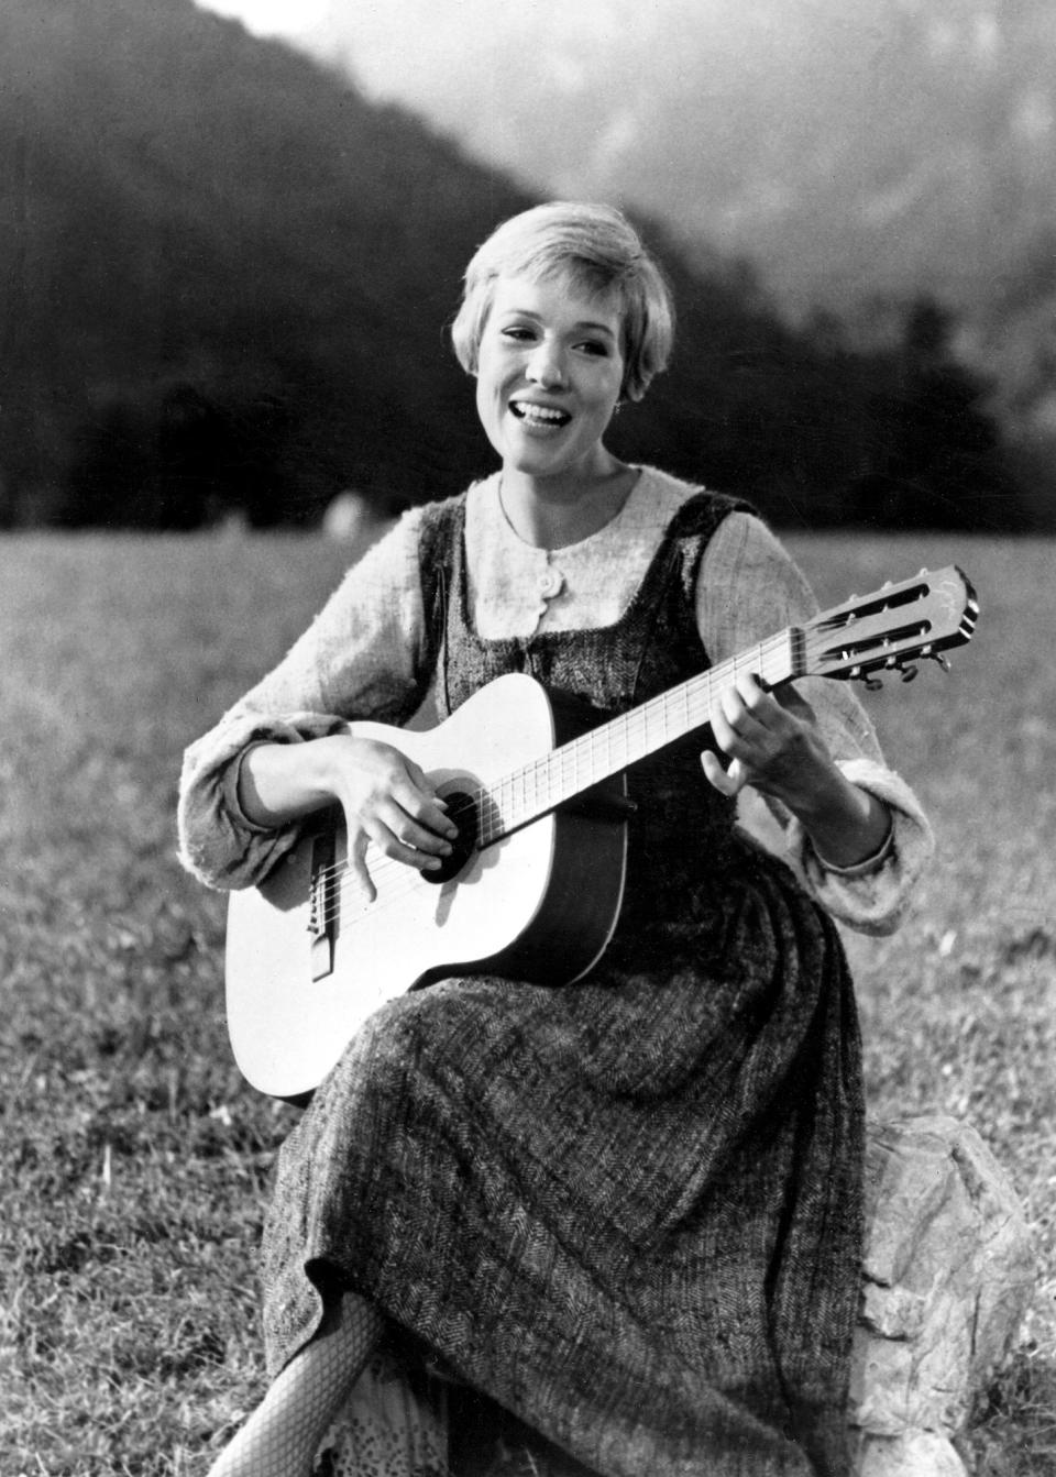
[[[935,1117],[870,1128],[865,1211],[858,1477],[963,1477],[950,1437],[1034,1292],[1022,1208],[979,1134]]]

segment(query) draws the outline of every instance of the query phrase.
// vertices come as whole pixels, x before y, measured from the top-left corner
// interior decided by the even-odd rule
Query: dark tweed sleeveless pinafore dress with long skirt
[[[734,507],[691,498],[614,625],[481,640],[464,499],[434,505],[440,716],[510,671],[598,719],[702,671],[693,589]],[[852,985],[832,920],[737,830],[699,750],[629,774],[626,902],[586,978],[406,994],[319,1086],[264,1233],[273,1371],[350,1286],[604,1477],[848,1471]]]

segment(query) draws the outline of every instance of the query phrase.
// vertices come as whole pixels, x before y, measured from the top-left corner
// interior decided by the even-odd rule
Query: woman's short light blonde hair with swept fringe
[[[591,295],[614,292],[623,313],[623,385],[641,400],[666,368],[675,337],[675,304],[657,261],[611,205],[552,201],[505,220],[465,269],[462,306],[450,328],[458,362],[477,372],[480,338],[501,276],[536,282],[561,278]]]

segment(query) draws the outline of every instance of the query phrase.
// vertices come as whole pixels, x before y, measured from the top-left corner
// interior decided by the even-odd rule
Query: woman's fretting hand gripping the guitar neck
[[[737,795],[746,784],[793,811],[809,808],[814,792],[826,783],[839,783],[833,764],[814,725],[814,712],[793,688],[765,691],[758,679],[744,674],[719,696],[712,712],[712,736],[730,759],[724,768],[719,755],[702,755],[704,775],[721,795]]]

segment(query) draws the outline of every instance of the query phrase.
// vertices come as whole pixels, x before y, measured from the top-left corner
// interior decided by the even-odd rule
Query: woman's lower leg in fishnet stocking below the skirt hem
[[[309,1477],[326,1427],[378,1347],[372,1303],[344,1292],[223,1449],[210,1477]]]

